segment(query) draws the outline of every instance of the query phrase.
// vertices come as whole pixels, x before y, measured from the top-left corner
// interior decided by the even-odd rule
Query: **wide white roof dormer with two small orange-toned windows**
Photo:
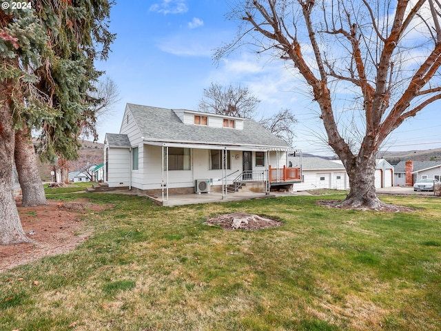
[[[243,119],[240,117],[194,112],[192,110],[173,110],[173,112],[187,125],[243,130]]]

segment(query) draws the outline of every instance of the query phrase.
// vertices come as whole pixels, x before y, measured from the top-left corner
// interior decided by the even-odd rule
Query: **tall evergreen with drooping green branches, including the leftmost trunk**
[[[15,132],[38,130],[45,160],[75,159],[80,128],[94,130],[94,61],[115,37],[110,1],[30,3],[0,12],[0,243],[28,240],[12,198]]]

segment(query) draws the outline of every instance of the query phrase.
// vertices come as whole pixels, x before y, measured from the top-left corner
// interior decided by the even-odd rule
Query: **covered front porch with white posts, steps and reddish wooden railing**
[[[288,168],[287,159],[289,152],[299,152],[293,148],[283,148],[283,147],[272,147],[272,146],[225,146],[216,145],[208,143],[178,143],[178,142],[158,142],[158,141],[144,141],[145,145],[148,146],[160,146],[161,147],[161,194],[156,194],[158,201],[161,201],[161,205],[172,205],[170,201],[170,189],[174,188],[174,182],[171,180],[171,172],[167,166],[170,159],[170,149],[171,148],[186,148],[192,150],[189,157],[189,163],[191,167],[188,170],[192,172],[192,180],[197,185],[200,179],[207,178],[211,179],[209,185],[216,185],[216,188],[220,192],[209,192],[199,193],[199,194],[189,194],[192,197],[188,199],[191,203],[198,203],[194,201],[205,201],[207,199],[211,200],[207,196],[214,197],[214,194],[219,195],[220,199],[229,200],[230,197],[234,199],[236,194],[237,199],[243,199],[239,197],[238,189],[245,183],[262,183],[263,192],[260,192],[263,196],[269,196],[271,191],[271,185],[277,185],[280,183],[295,183],[301,179],[301,168]],[[197,150],[218,150],[220,155],[220,165],[218,172],[216,173],[216,178],[207,175],[204,170],[198,170],[197,166],[201,165],[201,162],[196,159],[196,156],[200,156],[201,152],[196,152]],[[253,160],[254,157],[254,160]],[[248,159],[249,158],[249,159]],[[232,167],[229,167],[230,159],[234,160],[237,164],[240,163],[240,168],[234,171]],[[271,159],[271,161],[270,161]],[[198,164],[196,166],[196,163]],[[254,166],[255,165],[255,166]],[[256,167],[259,165],[259,170]],[[218,191],[217,190],[217,191]],[[172,191],[173,192],[173,191]],[[256,192],[242,192],[243,194],[252,194],[252,198],[256,198]],[[241,194],[241,195],[243,195]],[[187,194],[185,194],[187,195]]]

